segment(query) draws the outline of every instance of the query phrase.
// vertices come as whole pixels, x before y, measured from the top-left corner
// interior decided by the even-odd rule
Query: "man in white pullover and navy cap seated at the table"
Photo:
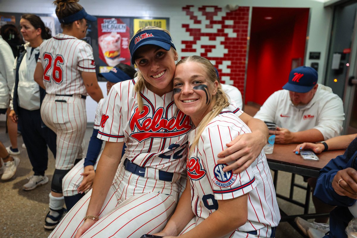
[[[278,126],[275,143],[287,144],[322,142],[340,135],[344,115],[341,98],[330,87],[317,83],[315,69],[301,66],[290,72],[283,90],[268,97],[254,117],[275,123]],[[307,182],[315,189],[316,178],[308,178]],[[315,197],[312,201],[316,213],[333,209]],[[328,217],[315,219],[321,227],[327,221]]]

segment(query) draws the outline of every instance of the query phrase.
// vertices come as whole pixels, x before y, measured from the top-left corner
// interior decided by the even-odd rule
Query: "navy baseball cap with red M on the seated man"
[[[293,92],[305,93],[316,85],[317,77],[317,71],[312,67],[300,66],[291,70],[289,81],[283,88]]]

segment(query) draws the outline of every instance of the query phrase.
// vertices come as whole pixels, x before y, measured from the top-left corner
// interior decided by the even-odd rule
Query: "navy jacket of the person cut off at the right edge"
[[[345,229],[348,222],[353,218],[348,207],[352,206],[356,199],[338,195],[332,188],[332,181],[339,170],[355,168],[357,170],[357,138],[355,138],[343,155],[331,159],[325,167],[320,170],[317,179],[314,196],[321,201],[337,206],[330,213],[330,233],[324,238],[347,238]]]

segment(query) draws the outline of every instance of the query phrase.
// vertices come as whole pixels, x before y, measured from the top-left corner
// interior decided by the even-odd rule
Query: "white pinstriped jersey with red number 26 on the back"
[[[74,36],[57,34],[40,46],[46,93],[87,95],[81,71],[95,72],[92,47]]]

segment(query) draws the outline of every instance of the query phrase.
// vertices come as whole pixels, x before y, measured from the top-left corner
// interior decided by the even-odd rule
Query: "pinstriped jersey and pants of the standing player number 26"
[[[71,169],[83,141],[87,90],[81,72],[95,72],[92,47],[74,36],[57,34],[40,46],[46,96],[41,117],[57,134],[56,169]],[[62,95],[62,96],[59,96]],[[73,95],[72,97],[63,95]]]

